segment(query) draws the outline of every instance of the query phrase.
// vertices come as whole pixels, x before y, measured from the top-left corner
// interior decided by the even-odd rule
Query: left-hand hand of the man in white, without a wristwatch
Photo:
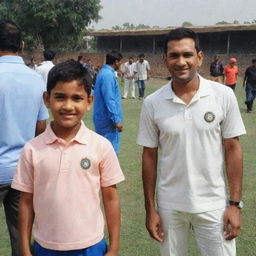
[[[152,211],[146,216],[146,227],[152,238],[158,242],[164,241],[164,231],[162,228],[162,223],[157,211]]]

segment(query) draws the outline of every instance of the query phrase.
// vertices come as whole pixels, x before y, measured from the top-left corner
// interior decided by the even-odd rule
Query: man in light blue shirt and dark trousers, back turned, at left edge
[[[0,19],[0,207],[4,206],[12,256],[20,256],[18,205],[20,192],[11,188],[13,173],[26,142],[45,130],[42,77],[21,57],[19,27]]]

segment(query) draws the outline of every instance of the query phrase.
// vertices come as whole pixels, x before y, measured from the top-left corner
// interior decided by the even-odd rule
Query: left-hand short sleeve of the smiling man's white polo
[[[149,148],[158,147],[159,131],[153,116],[153,107],[146,99],[141,109],[139,134],[137,138],[137,144],[141,146]]]

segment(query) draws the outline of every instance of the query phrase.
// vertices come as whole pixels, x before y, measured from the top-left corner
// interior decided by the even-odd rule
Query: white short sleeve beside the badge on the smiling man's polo
[[[226,93],[226,111],[221,126],[223,138],[228,139],[246,134],[246,130],[234,92],[230,89],[227,90]]]

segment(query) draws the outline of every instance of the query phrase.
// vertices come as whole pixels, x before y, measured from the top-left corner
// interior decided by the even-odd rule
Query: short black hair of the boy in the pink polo
[[[87,69],[75,60],[59,63],[50,70],[47,80],[47,92],[50,94],[58,82],[71,82],[73,80],[79,81],[88,96],[91,94],[91,76]]]

